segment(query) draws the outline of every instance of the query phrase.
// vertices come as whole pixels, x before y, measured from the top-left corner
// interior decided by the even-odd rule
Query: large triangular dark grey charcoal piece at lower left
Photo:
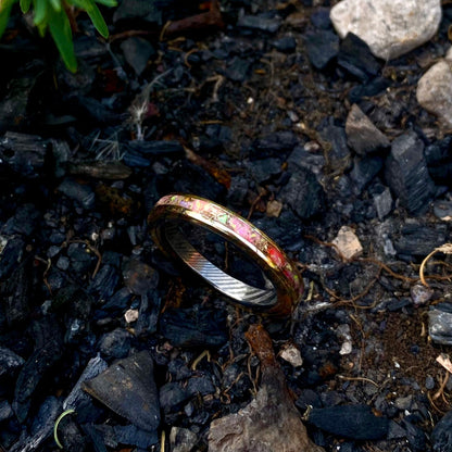
[[[81,388],[137,427],[155,432],[160,424],[159,394],[152,356],[147,351],[115,361]]]

